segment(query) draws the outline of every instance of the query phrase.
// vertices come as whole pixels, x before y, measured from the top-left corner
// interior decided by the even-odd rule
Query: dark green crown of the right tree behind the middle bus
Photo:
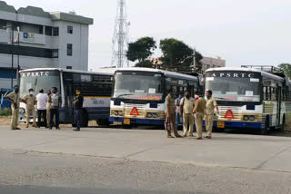
[[[174,38],[160,41],[160,49],[163,52],[162,62],[166,66],[186,65],[190,66],[193,62],[193,49],[182,41]]]

